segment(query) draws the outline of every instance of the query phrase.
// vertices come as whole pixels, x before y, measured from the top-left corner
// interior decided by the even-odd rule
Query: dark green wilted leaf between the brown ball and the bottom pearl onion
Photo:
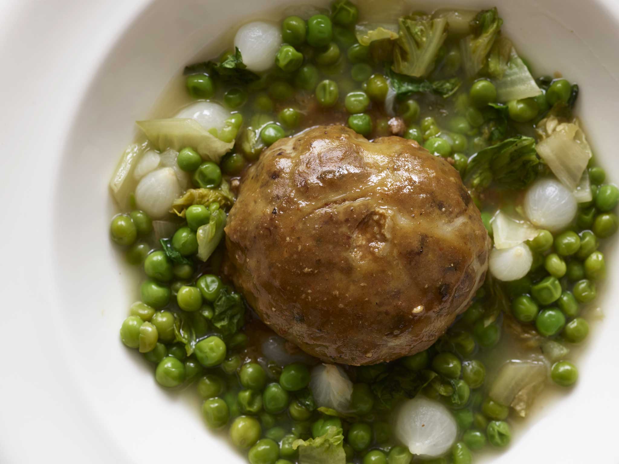
[[[383,380],[371,385],[372,392],[381,406],[391,409],[398,400],[413,398],[436,377],[436,372],[411,372],[396,366]]]

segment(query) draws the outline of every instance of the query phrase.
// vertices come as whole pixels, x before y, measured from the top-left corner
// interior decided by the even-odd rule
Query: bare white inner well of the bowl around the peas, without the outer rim
[[[246,462],[207,431],[193,392],[166,392],[158,387],[152,367],[119,341],[118,329],[136,299],[137,281],[108,238],[115,206],[107,186],[121,152],[135,135],[134,121],[152,110],[171,77],[240,22],[277,18],[274,13],[289,3],[150,3],[110,43],[66,136],[53,194],[54,330],[63,346],[67,379],[81,391],[80,404],[100,424],[101,440],[118,446],[127,462],[200,457],[206,462]],[[492,4],[504,19],[504,32],[537,74],[561,71],[578,82],[578,114],[589,142],[609,178],[619,179],[614,158],[619,28],[612,12],[594,0],[497,0]],[[433,9],[433,5],[415,2],[416,8]],[[480,9],[488,4],[451,1],[444,6]],[[613,247],[607,254],[608,273],[615,281],[619,276],[616,251]],[[598,300],[606,317],[592,327],[589,346],[579,359],[578,385],[568,395],[555,395],[558,398],[547,402],[540,399],[537,413],[519,429],[512,447],[491,455],[492,462],[524,462],[532,455],[535,462],[619,459],[613,444],[616,427],[604,425],[614,423],[607,407],[616,403],[614,385],[619,382],[619,369],[611,372],[607,367],[617,365],[613,337],[619,316],[610,303],[618,297],[619,290],[607,285]],[[592,423],[595,426],[582,426]],[[566,445],[566,437],[578,437],[578,443]]]

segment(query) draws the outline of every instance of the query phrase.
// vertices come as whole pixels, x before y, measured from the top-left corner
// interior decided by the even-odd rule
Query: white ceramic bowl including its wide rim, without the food
[[[378,1],[378,0],[377,0]],[[245,463],[192,395],[157,387],[118,339],[133,281],[108,239],[107,183],[133,122],[204,46],[282,0],[0,1],[0,462]],[[619,5],[496,4],[537,72],[581,86],[579,115],[610,179],[616,160]],[[417,2],[420,7],[430,7]],[[540,405],[497,464],[619,462],[619,256],[608,251],[581,378]]]

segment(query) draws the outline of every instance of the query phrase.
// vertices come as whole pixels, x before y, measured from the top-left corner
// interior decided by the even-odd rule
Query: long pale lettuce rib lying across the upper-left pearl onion
[[[234,142],[223,142],[191,118],[150,119],[137,121],[137,125],[161,152],[168,148],[180,152],[184,147],[192,147],[202,158],[219,163],[234,146]]]

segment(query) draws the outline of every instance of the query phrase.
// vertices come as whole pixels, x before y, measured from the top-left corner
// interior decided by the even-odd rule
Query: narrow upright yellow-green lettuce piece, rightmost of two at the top
[[[499,17],[496,7],[478,12],[470,26],[471,35],[460,41],[462,67],[468,77],[474,77],[486,64],[486,58],[501,30],[503,20]]]

